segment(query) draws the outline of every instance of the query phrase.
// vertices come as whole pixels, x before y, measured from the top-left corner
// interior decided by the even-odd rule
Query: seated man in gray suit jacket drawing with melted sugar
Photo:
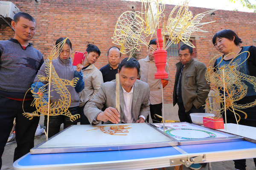
[[[116,81],[102,84],[99,93],[84,107],[91,125],[106,123],[144,123],[149,114],[149,86],[137,80],[140,64],[137,59],[122,60],[119,65],[120,113],[116,110]],[[106,106],[105,111],[100,109]]]

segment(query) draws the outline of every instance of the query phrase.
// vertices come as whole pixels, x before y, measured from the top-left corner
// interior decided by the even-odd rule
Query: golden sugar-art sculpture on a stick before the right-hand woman
[[[248,57],[250,56],[249,51],[244,51],[243,53],[248,53]],[[238,57],[239,55],[237,55],[236,57]],[[253,85],[253,89],[254,91],[256,91],[256,77],[241,73],[239,71],[239,65],[243,64],[248,59],[248,57],[242,63],[239,63],[240,59],[236,59],[236,57],[234,57],[230,61],[229,65],[217,65],[216,67],[213,67],[213,61],[215,61],[215,59],[218,57],[221,57],[221,55],[215,56],[209,62],[205,74],[205,77],[210,84],[210,87],[212,88],[212,90],[215,91],[213,95],[213,97],[215,97],[215,102],[211,103],[208,97],[205,106],[209,109],[209,111],[216,111],[217,113],[230,110],[235,114],[235,116],[237,115],[239,117],[239,119],[237,120],[237,122],[239,122],[241,116],[237,112],[243,113],[244,118],[247,118],[247,114],[239,109],[249,108],[256,105],[256,100],[254,102],[250,102],[244,105],[236,104],[236,101],[244,98],[244,96],[246,96],[247,94],[248,87],[244,83],[245,81]],[[222,60],[223,59],[221,59],[221,61]],[[221,93],[220,91],[222,91],[223,93]],[[218,105],[220,107],[215,108],[213,107],[213,105]]]

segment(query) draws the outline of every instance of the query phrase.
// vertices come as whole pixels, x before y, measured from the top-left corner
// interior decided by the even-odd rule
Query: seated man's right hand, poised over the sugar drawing
[[[106,108],[104,112],[99,113],[96,117],[96,120],[103,122],[107,122],[109,120],[110,122],[117,124],[120,122],[119,117],[120,114],[118,111],[115,108],[109,107]]]

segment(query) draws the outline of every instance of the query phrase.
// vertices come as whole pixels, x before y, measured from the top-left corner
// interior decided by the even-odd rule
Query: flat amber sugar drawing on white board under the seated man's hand
[[[127,134],[119,134],[119,133],[129,133],[128,129],[131,129],[131,127],[127,127],[130,125],[119,125],[117,127],[116,125],[111,125],[111,126],[96,126],[95,129],[91,130],[101,130],[103,133],[108,134],[108,135],[118,135],[118,136],[124,136]],[[109,128],[109,130],[105,130],[104,128]],[[90,130],[87,130],[90,131]]]

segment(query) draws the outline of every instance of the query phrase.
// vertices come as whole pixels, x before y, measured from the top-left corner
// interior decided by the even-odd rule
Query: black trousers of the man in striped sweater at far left
[[[32,113],[35,111],[35,108],[30,106],[31,102],[32,100],[24,101],[23,104],[22,101],[0,96],[0,169],[2,167],[3,150],[11,133],[14,118],[16,118],[15,135],[17,147],[15,148],[13,161],[29,153],[29,150],[34,147],[34,137],[39,116],[34,116],[32,120],[29,120],[22,115],[22,105],[25,112]]]

